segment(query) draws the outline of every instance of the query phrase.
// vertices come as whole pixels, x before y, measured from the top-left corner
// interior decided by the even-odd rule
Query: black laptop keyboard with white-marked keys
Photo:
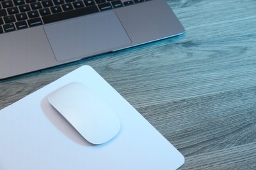
[[[147,0],[0,0],[0,33],[115,9]]]

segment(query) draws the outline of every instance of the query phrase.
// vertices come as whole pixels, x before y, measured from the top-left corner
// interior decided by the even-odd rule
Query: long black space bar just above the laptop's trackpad
[[[96,6],[91,6],[76,10],[68,10],[66,12],[56,13],[48,16],[43,16],[42,19],[45,24],[48,24],[51,22],[74,18],[77,16],[83,16],[85,14],[92,14],[95,12],[98,12],[98,8]]]

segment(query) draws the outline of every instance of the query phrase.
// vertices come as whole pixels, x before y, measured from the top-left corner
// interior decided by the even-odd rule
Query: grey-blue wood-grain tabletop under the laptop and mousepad
[[[91,65],[184,155],[256,169],[256,1],[168,1],[184,35],[0,81],[0,109]]]

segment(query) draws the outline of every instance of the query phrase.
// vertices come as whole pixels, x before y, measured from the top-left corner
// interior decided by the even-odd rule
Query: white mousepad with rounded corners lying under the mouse
[[[114,110],[116,137],[91,144],[53,109],[49,93],[82,82]],[[100,107],[100,106],[99,106]],[[82,66],[0,110],[0,169],[178,169],[182,154],[96,71]]]

